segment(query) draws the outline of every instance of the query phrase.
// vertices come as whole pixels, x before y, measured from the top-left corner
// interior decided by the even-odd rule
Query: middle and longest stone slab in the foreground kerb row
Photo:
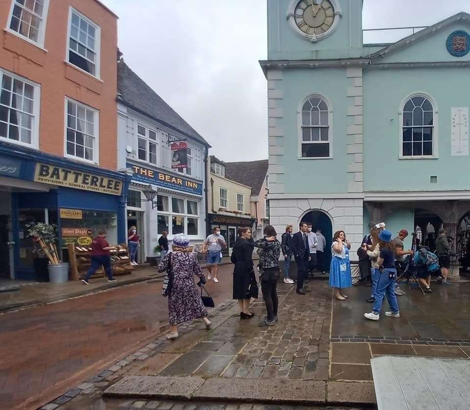
[[[192,398],[245,402],[276,402],[319,405],[326,402],[326,383],[301,380],[222,379],[207,380]]]

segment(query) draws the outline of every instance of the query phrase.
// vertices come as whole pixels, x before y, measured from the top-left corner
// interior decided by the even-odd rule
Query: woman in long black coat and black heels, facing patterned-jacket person
[[[238,300],[240,319],[250,319],[255,315],[248,310],[251,296],[248,294],[250,282],[255,277],[253,271],[253,241],[250,228],[239,228],[238,238],[232,251],[234,268],[234,299]],[[255,279],[256,280],[256,279]]]

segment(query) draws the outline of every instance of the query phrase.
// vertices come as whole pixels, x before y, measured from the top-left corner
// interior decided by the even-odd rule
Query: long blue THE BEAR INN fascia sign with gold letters
[[[128,168],[134,171],[133,179],[136,181],[151,183],[162,188],[173,189],[175,191],[185,192],[193,195],[202,195],[202,183],[189,181],[185,178],[174,177],[164,172],[141,166],[127,164]]]

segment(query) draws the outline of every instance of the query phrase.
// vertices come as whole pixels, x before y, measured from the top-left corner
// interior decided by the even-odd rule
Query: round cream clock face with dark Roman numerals
[[[333,24],[334,7],[329,0],[301,0],[295,6],[294,19],[305,34],[318,36]]]

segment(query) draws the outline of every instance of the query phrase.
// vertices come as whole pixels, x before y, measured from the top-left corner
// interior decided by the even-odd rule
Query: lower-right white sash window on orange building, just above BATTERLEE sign
[[[98,111],[67,99],[66,156],[98,162]]]

